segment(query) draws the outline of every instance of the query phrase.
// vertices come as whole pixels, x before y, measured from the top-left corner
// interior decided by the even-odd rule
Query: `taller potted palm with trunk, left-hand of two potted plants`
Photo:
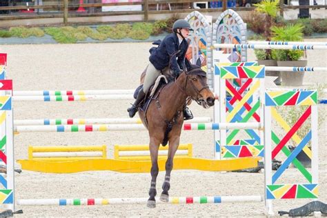
[[[273,0],[264,0],[259,3],[254,4],[255,7],[255,13],[259,13],[260,19],[264,21],[261,26],[263,28],[263,31],[261,32],[262,37],[261,40],[270,41],[271,39],[271,30],[270,28],[276,24],[277,19],[277,12],[278,12],[278,6],[279,6],[279,0],[273,1]],[[257,22],[257,20],[253,20],[253,22]],[[259,65],[264,66],[277,66],[277,61],[273,59],[273,52],[270,49],[261,50],[256,49],[255,50],[255,57],[257,57],[257,61]],[[266,76],[270,77],[277,77],[275,79],[275,84],[280,85],[281,79],[278,71],[266,71]]]

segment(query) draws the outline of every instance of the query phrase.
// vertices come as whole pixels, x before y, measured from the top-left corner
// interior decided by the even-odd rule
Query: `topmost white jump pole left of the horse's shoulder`
[[[14,96],[48,96],[48,95],[132,95],[135,90],[28,90],[13,91]]]

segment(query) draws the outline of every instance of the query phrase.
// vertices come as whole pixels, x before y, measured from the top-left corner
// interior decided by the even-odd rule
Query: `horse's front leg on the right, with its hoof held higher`
[[[162,184],[162,192],[160,195],[160,200],[164,202],[169,201],[168,190],[170,189],[170,172],[172,172],[174,156],[179,146],[179,136],[176,136],[169,141],[169,149],[168,149],[168,158],[166,161],[166,176],[164,184]]]

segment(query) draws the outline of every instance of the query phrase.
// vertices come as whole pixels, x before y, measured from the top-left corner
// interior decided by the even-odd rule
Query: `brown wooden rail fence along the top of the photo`
[[[37,1],[37,0],[35,0]],[[92,0],[92,2],[97,0]],[[199,12],[223,12],[226,10],[230,2],[232,2],[232,9],[239,10],[254,10],[255,7],[235,7],[236,1],[242,0],[223,0],[221,8],[200,8]],[[83,1],[81,1],[83,2]],[[61,3],[52,3],[49,5],[34,5],[34,6],[0,6],[0,20],[14,20],[14,19],[39,19],[39,18],[63,18],[63,23],[68,23],[69,17],[100,17],[100,16],[117,16],[117,15],[143,15],[143,21],[148,21],[149,14],[179,14],[189,13],[195,10],[193,3],[199,3],[199,0],[172,0],[172,1],[153,1],[143,0],[139,2],[126,3],[68,3],[68,0],[61,0]],[[204,3],[217,1],[204,1]],[[164,10],[157,10],[154,6],[168,5],[169,8]],[[106,6],[141,6],[140,10],[135,11],[101,11],[102,7]],[[171,6],[171,7],[170,7]],[[76,8],[83,8],[83,10],[76,10]],[[327,6],[286,6],[280,5],[280,13],[283,15],[284,10],[298,9],[298,8],[327,8]],[[15,11],[15,12],[12,12]],[[19,12],[21,11],[21,12]],[[27,12],[28,11],[28,12]],[[33,12],[30,12],[33,11]],[[42,12],[40,12],[42,11]]]

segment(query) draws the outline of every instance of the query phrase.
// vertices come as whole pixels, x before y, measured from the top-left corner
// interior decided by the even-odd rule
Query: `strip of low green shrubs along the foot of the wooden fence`
[[[264,36],[267,29],[262,19],[262,14],[253,12],[250,16],[245,17],[244,21],[248,23],[248,29],[255,34]],[[172,24],[177,17],[155,21],[155,23],[119,23],[117,25],[97,26],[64,26],[64,27],[47,27],[47,28],[26,28],[13,27],[9,30],[0,30],[0,37],[43,37],[45,34],[50,35],[58,43],[76,43],[77,41],[86,41],[86,39],[95,39],[104,41],[106,39],[148,39],[151,35],[171,32]],[[302,23],[304,25],[304,36],[310,36],[314,32],[327,32],[327,19],[297,19],[286,21],[277,17],[278,26],[285,26],[288,23]],[[265,37],[264,37],[265,38]]]

